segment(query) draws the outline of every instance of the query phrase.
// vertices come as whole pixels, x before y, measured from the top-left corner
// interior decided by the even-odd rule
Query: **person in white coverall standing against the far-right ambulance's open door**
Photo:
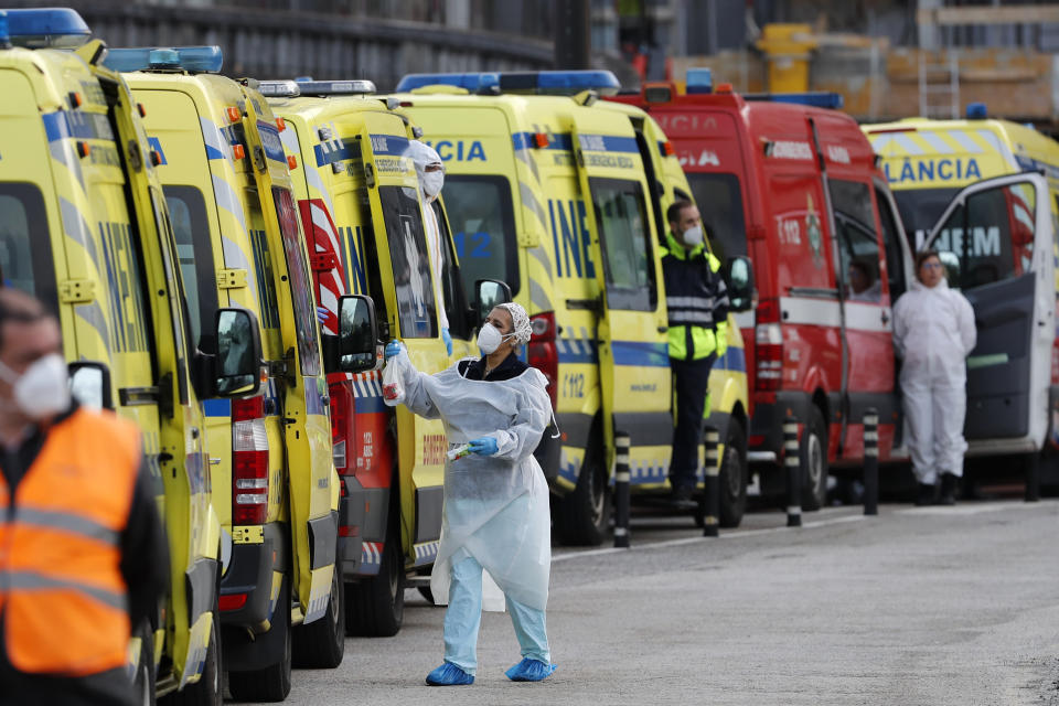
[[[912,470],[919,481],[917,505],[955,502],[963,475],[963,420],[967,411],[966,359],[974,349],[974,309],[949,288],[938,253],[916,258],[919,281],[894,306],[894,347],[901,359],[901,394]]]

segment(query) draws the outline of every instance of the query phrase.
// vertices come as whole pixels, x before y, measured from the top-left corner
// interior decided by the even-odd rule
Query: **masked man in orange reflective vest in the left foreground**
[[[138,702],[130,625],[169,571],[140,446],[71,398],[55,318],[0,289],[0,704]]]

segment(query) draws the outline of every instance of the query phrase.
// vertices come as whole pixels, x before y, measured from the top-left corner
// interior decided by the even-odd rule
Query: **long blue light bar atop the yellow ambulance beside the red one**
[[[469,93],[531,93],[570,96],[596,90],[612,96],[621,88],[609,71],[531,71],[464,74],[408,74],[397,84],[400,93],[424,86],[456,86]]]

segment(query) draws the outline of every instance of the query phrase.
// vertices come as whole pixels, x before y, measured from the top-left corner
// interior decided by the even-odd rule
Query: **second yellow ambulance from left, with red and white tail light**
[[[280,700],[292,662],[333,667],[342,659],[339,484],[289,173],[297,164],[284,153],[282,120],[257,90],[217,75],[222,62],[215,46],[106,57],[130,72],[147,110],[192,341],[216,356],[221,387],[240,392],[206,400],[228,688],[240,700]]]

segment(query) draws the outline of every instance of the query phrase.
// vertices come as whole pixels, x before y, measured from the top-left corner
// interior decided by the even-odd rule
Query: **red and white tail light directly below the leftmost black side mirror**
[[[232,524],[260,525],[268,515],[265,397],[232,400]]]

